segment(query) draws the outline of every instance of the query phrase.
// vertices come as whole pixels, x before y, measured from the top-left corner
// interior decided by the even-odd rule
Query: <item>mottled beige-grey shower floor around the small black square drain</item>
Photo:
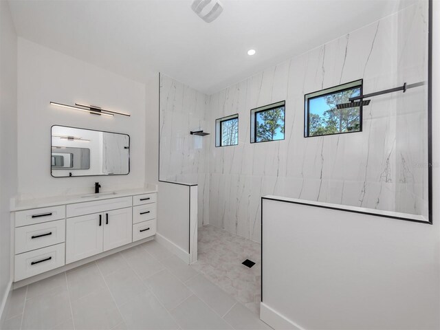
[[[192,267],[255,314],[260,313],[261,244],[213,225],[198,232],[198,261]],[[252,268],[241,265],[250,259]]]

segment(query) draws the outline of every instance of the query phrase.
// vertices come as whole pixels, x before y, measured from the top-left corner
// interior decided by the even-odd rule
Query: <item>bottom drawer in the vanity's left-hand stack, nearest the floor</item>
[[[64,243],[17,254],[14,281],[54,270],[64,265]]]

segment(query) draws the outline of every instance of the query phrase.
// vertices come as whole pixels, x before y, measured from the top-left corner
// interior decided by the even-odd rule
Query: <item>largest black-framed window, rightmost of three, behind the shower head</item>
[[[362,131],[362,105],[344,107],[349,98],[362,95],[362,79],[305,96],[305,137]]]

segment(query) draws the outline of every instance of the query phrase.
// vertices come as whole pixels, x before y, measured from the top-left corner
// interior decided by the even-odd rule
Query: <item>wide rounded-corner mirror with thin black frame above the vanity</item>
[[[52,126],[53,177],[126,175],[129,153],[129,135]]]

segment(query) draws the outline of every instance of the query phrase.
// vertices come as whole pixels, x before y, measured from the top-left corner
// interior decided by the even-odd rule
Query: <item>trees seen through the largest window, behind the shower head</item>
[[[309,135],[336,134],[360,130],[360,107],[338,109],[336,104],[349,102],[358,88],[341,91],[325,96],[325,102],[330,107],[322,116],[309,115]]]

